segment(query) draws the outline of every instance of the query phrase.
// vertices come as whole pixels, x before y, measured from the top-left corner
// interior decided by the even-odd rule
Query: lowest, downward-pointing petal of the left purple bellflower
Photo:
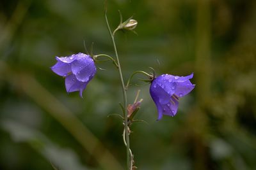
[[[81,92],[83,92],[83,90],[86,88],[87,84],[88,82],[78,81],[74,74],[70,74],[65,78],[65,86],[67,92],[80,91],[81,94]]]

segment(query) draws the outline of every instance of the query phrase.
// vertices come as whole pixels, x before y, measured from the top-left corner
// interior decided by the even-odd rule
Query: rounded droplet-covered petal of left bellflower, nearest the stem
[[[71,64],[72,73],[76,75],[79,81],[89,81],[96,73],[96,67],[93,59],[89,55],[77,59]]]

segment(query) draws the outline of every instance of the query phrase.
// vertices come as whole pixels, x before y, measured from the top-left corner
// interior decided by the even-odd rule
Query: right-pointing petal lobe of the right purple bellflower
[[[195,88],[195,85],[193,85],[189,80],[181,82],[181,83],[177,83],[175,95],[178,97],[186,96],[194,88]]]

